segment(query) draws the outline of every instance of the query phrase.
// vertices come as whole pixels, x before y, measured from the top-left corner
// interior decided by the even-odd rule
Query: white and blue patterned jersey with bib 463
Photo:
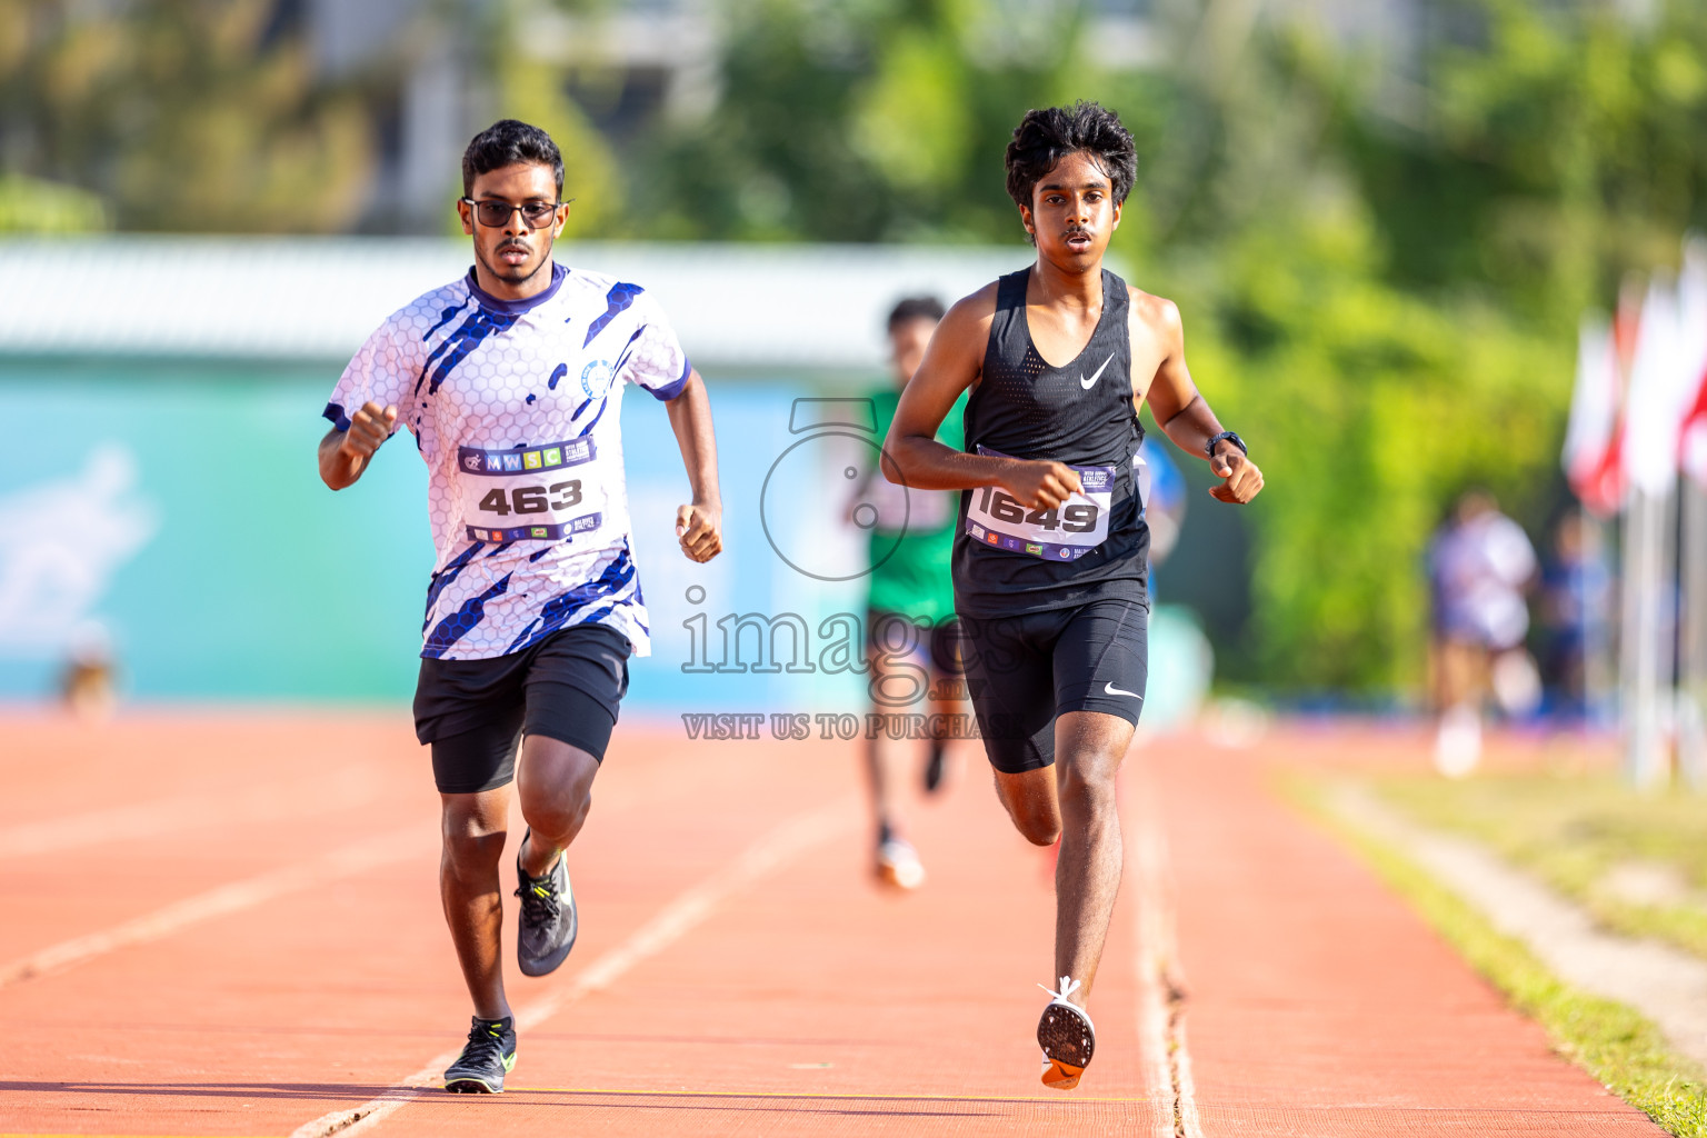
[[[398,408],[428,471],[437,561],[422,655],[485,660],[596,621],[650,652],[630,553],[623,386],[673,399],[688,360],[657,302],[613,276],[551,268],[498,300],[475,273],[394,312],[326,404]]]

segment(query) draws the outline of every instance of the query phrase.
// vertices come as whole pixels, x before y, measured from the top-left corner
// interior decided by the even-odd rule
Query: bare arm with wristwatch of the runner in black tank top
[[[1132,369],[1133,406],[1142,406],[1149,399],[1151,415],[1156,416],[1162,433],[1186,454],[1203,456],[1203,444],[1219,435],[1222,427],[1191,380],[1191,369],[1186,367],[1180,309],[1171,300],[1133,288],[1132,341],[1133,360],[1161,358],[1149,377],[1137,367]],[[1209,466],[1215,478],[1226,479],[1209,491],[1219,502],[1244,505],[1263,488],[1263,473],[1227,438],[1215,444]]]

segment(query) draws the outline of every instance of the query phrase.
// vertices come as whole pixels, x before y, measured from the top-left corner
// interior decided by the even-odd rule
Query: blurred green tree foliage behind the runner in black
[[[734,0],[724,99],[647,184],[678,237],[1014,241],[1026,107],[1121,113],[1140,176],[1116,253],[1181,302],[1193,370],[1268,473],[1238,679],[1403,689],[1422,551],[1487,485],[1536,537],[1582,307],[1700,220],[1707,15],[1446,0],[1407,58],[1308,22],[1173,27],[1087,63],[1070,5]],[[1053,17],[1053,19],[1050,19]]]

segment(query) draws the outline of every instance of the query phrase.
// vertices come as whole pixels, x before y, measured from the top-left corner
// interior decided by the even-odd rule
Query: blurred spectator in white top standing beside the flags
[[[1489,693],[1507,715],[1540,706],[1540,674],[1523,647],[1529,631],[1524,590],[1535,570],[1535,546],[1485,490],[1465,493],[1429,546],[1441,715],[1434,763],[1442,775],[1463,778],[1482,759]]]

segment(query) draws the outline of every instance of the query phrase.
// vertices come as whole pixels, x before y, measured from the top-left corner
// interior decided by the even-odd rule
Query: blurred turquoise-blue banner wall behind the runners
[[[425,467],[398,435],[357,486],[328,491],[314,447],[333,379],[307,367],[7,362],[0,696],[50,694],[73,645],[104,636],[135,698],[406,700],[432,568]],[[818,454],[809,432],[790,432],[804,389],[712,386],[727,553],[705,566],[676,548],[688,486],[664,408],[640,391],[623,401],[655,635],[654,655],[633,662],[632,705],[857,701],[857,677],[823,674],[821,645],[790,636],[806,628],[816,642],[828,614],[860,611],[857,577],[819,580],[857,575],[864,558],[842,522],[838,457],[859,442],[830,438]],[[766,537],[766,476],[790,447],[801,456],[802,438],[811,459],[789,467],[768,512],[782,548],[833,563],[819,577],[790,568]],[[814,483],[831,462],[842,485]],[[724,652],[719,621],[744,616],[780,619],[775,672],[753,671],[770,662],[751,619]]]

